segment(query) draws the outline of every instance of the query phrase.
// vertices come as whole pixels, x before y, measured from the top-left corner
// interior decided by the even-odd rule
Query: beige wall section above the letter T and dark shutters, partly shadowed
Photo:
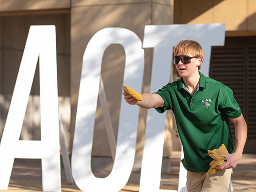
[[[175,0],[175,23],[226,23],[228,36],[256,34],[255,0]]]

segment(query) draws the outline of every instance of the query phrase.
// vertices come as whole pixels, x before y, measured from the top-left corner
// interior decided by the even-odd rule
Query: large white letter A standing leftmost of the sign
[[[39,59],[41,140],[19,140]],[[31,26],[0,144],[0,189],[7,190],[14,158],[42,160],[43,191],[61,191],[55,26]]]

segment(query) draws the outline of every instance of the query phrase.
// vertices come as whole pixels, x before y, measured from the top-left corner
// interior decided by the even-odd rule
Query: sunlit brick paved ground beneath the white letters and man
[[[177,190],[179,177],[180,152],[171,158],[171,172],[162,174],[163,189]],[[13,172],[7,192],[41,192],[42,174],[40,159],[15,159]],[[96,171],[97,177],[104,177],[108,172]],[[234,192],[256,192],[256,154],[244,154],[232,174]],[[139,192],[140,173],[132,172],[127,185],[120,192]],[[75,184],[67,184],[63,166],[61,167],[62,192],[81,192]],[[0,190],[0,192],[5,192]]]

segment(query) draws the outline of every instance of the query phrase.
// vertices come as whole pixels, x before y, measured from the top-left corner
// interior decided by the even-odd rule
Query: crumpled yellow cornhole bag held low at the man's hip
[[[222,170],[219,170],[218,168],[222,167],[227,162],[227,159],[222,157],[220,154],[229,154],[225,145],[222,144],[222,146],[220,146],[217,149],[213,149],[211,151],[208,150],[208,154],[214,160],[210,162],[211,167],[209,168],[207,174],[215,174],[222,172]]]

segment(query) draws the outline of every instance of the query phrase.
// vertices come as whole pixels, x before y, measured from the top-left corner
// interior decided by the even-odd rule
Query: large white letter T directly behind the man
[[[196,40],[201,44],[204,51],[201,71],[209,76],[211,46],[224,45],[225,24],[145,26],[143,47],[154,47],[150,93],[156,92],[173,79],[170,73],[173,47],[185,39]],[[166,113],[148,110],[140,192],[159,191],[165,118]],[[186,190],[186,175],[183,179],[185,182],[180,180],[179,191]]]

